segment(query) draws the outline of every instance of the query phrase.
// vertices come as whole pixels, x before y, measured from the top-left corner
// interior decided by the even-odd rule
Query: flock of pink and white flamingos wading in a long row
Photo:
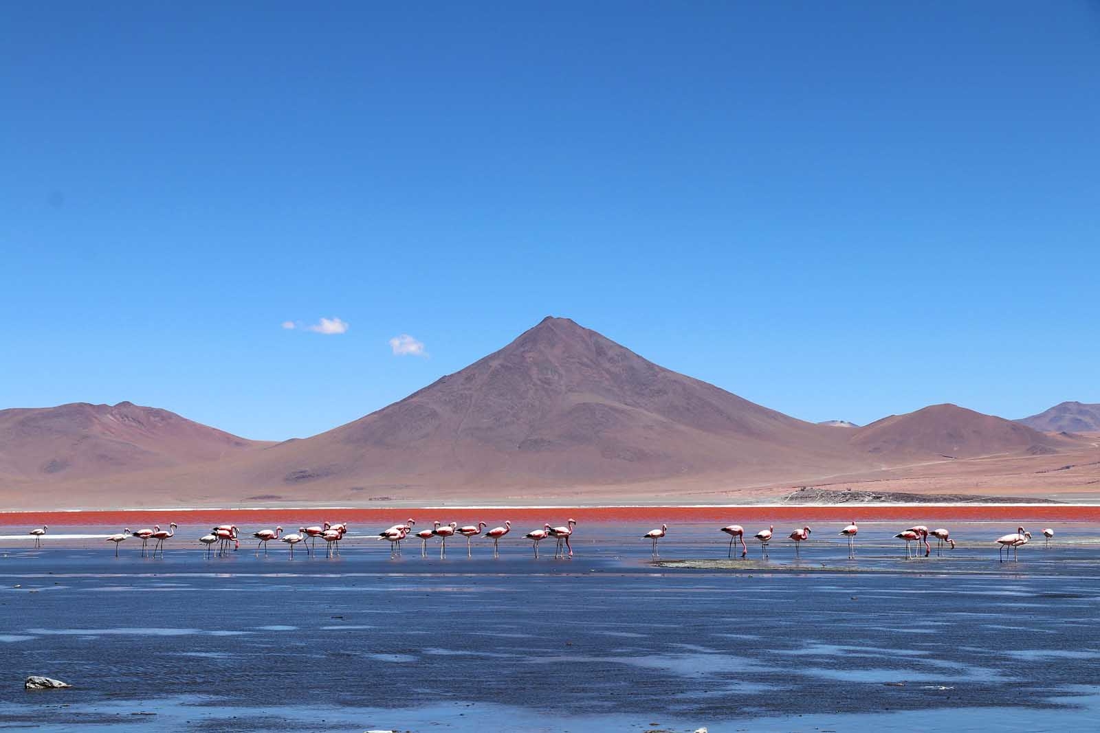
[[[536,559],[539,557],[539,544],[549,537],[553,537],[557,541],[554,559],[569,559],[573,557],[571,538],[576,524],[578,522],[575,519],[569,519],[564,524],[559,526],[551,526],[549,522],[544,522],[540,529],[531,530],[526,533],[524,538],[531,541],[531,551]],[[444,524],[443,522],[437,520],[432,523],[431,529],[424,529],[414,533],[413,529],[415,525],[416,520],[409,518],[404,522],[394,524],[388,529],[383,530],[375,536],[380,541],[385,540],[389,543],[389,555],[394,558],[400,555],[402,543],[409,536],[414,536],[420,540],[421,557],[428,556],[428,542],[436,538],[439,541],[439,557],[440,559],[446,559],[447,541],[455,535],[465,537],[468,558],[473,557],[474,545],[472,541],[474,538],[492,540],[493,557],[498,558],[501,556],[501,540],[506,537],[512,532],[510,521],[506,521],[502,526],[495,526],[491,530],[486,530],[488,526],[486,522],[477,522],[475,524],[459,526],[458,522],[449,522]],[[151,529],[136,531],[127,527],[122,532],[106,536],[105,540],[114,545],[116,557],[119,556],[119,545],[131,538],[141,540],[141,555],[143,557],[152,555],[152,557],[155,558],[157,553],[160,553],[161,557],[164,557],[165,542],[176,535],[177,527],[178,525],[175,522],[169,522],[166,530],[162,530],[158,524],[154,524]],[[48,526],[43,524],[41,527],[35,527],[29,532],[30,536],[34,540],[35,547],[42,547],[42,540],[46,535],[47,530]],[[660,527],[650,530],[641,535],[644,540],[648,540],[650,542],[650,556],[653,559],[661,556],[659,542],[666,537],[668,531],[669,525],[661,524]],[[718,531],[729,537],[726,551],[728,558],[732,559],[734,557],[734,547],[737,545],[739,545],[740,549],[739,557],[748,557],[749,548],[745,542],[746,530],[743,525],[727,524],[726,526],[719,527]],[[760,530],[752,535],[752,537],[760,543],[760,557],[762,559],[767,559],[769,557],[768,549],[770,543],[774,538],[774,532],[776,526],[770,525],[768,529]],[[794,544],[794,556],[796,558],[801,557],[802,543],[809,542],[812,532],[813,530],[809,525],[804,525],[800,529],[795,529],[788,535],[788,538]],[[1050,541],[1055,534],[1054,530],[1050,527],[1044,527],[1041,532],[1044,538],[1044,547],[1049,548],[1052,544]],[[292,559],[294,558],[295,547],[299,544],[302,545],[302,549],[305,549],[307,556],[316,555],[317,540],[320,538],[324,542],[326,557],[331,558],[340,554],[340,543],[346,533],[346,522],[323,522],[322,524],[312,526],[301,526],[298,527],[298,532],[294,534],[283,534],[282,526],[276,526],[274,530],[258,530],[252,533],[252,537],[256,540],[254,554],[258,557],[262,549],[263,555],[267,556],[268,543],[276,541],[283,542],[287,545]],[[837,534],[845,537],[847,541],[848,558],[854,559],[856,557],[856,537],[859,534],[859,525],[853,521],[850,524],[840,529]],[[212,557],[215,553],[219,556],[223,556],[240,548],[240,536],[241,530],[235,524],[220,524],[212,527],[208,534],[198,537],[198,542],[204,545],[204,551],[207,557]],[[930,538],[936,540],[937,556],[943,555],[945,547],[955,549],[956,546],[955,538],[950,536],[949,530],[946,527],[930,530],[924,524],[913,525],[894,534],[893,537],[905,543],[904,557],[906,560],[930,557],[932,555]],[[1010,559],[1012,562],[1019,562],[1020,548],[1031,542],[1031,538],[1032,533],[1025,530],[1022,525],[1018,526],[1015,532],[998,537],[993,541],[993,543],[998,545],[998,560],[1000,563],[1004,563]],[[152,543],[152,551],[150,551],[150,543]]]

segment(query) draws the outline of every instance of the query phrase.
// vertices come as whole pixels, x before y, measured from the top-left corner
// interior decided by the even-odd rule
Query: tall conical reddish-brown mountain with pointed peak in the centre
[[[571,320],[547,318],[399,402],[238,462],[234,471],[244,468],[239,480],[278,495],[317,485],[387,496],[402,487],[617,484],[715,471],[795,476],[847,465],[845,440],[846,431],[760,407]]]

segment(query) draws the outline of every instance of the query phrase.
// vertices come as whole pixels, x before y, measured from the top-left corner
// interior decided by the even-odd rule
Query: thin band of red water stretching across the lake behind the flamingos
[[[9,511],[0,512],[0,525],[106,525],[132,523],[160,523],[168,521],[189,524],[241,525],[317,523],[329,520],[351,524],[393,524],[407,517],[419,523],[433,520],[455,521],[460,524],[485,521],[490,524],[535,523],[564,521],[579,522],[849,522],[873,521],[1004,521],[1013,522],[1097,522],[1100,506],[1092,504],[906,504],[884,507],[576,507],[576,508],[515,508],[515,509],[459,509],[447,507],[426,508],[354,508],[354,509],[189,509],[189,510],[89,510],[89,511]]]

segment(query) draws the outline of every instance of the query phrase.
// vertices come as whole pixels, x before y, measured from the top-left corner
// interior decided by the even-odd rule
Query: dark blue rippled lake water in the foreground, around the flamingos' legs
[[[856,560],[822,526],[800,560],[777,538],[763,565],[750,541],[734,571],[656,567],[650,526],[609,523],[534,560],[527,529],[497,560],[462,538],[391,559],[364,529],[294,562],[282,543],[206,559],[206,527],[155,560],[59,536],[114,529],[41,549],[0,529],[0,730],[1100,730],[1100,527],[1000,564],[1001,523],[916,560],[890,538],[904,526],[861,524]],[[726,552],[714,525],[661,544]],[[31,674],[74,687],[26,692]]]

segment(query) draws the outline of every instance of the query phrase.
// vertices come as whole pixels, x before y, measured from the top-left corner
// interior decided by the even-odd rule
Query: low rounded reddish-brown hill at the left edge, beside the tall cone
[[[0,475],[59,482],[216,460],[261,443],[131,402],[0,410]]]

